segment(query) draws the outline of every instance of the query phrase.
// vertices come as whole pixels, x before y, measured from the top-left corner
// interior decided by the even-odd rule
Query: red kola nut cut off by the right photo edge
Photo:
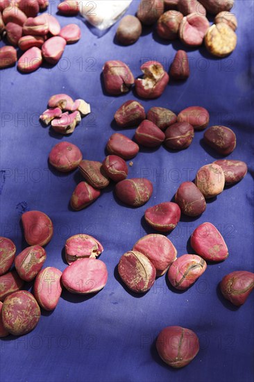
[[[254,289],[254,273],[235,271],[223,277],[220,283],[221,293],[235,306],[245,303]]]

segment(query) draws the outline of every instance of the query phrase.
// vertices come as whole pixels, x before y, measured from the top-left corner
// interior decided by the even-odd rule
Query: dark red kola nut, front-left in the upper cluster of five
[[[144,147],[157,147],[164,139],[163,131],[149,119],[144,119],[135,131],[135,140]]]

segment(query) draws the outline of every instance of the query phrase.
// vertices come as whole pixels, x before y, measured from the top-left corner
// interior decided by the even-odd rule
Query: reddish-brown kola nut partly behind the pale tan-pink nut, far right
[[[225,184],[232,185],[246,176],[248,167],[242,160],[219,159],[215,160],[215,165],[219,165],[225,175]]]

